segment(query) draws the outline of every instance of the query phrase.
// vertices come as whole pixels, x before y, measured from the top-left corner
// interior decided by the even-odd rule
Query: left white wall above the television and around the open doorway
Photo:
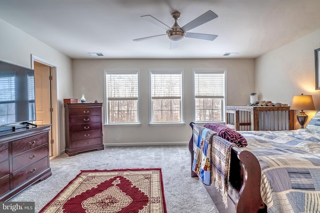
[[[31,54],[57,66],[60,152],[64,150],[63,98],[72,96],[71,59],[0,19],[0,60],[31,68]]]

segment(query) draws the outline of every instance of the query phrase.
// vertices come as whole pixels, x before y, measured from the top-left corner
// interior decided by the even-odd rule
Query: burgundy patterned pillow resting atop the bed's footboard
[[[218,123],[206,123],[203,127],[216,132],[219,137],[236,144],[238,147],[246,147],[248,145],[245,138],[239,132],[228,126]]]

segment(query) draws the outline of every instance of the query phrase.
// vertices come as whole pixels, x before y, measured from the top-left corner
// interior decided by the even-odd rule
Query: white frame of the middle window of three
[[[180,121],[179,122],[153,122],[153,108],[152,108],[152,90],[151,90],[151,75],[152,72],[157,73],[180,73],[181,74],[181,107],[180,107]],[[149,125],[163,126],[163,125],[184,125],[184,70],[183,69],[149,69]]]

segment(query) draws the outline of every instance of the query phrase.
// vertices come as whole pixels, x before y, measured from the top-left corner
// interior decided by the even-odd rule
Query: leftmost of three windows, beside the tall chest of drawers
[[[107,124],[139,123],[138,70],[105,70]]]

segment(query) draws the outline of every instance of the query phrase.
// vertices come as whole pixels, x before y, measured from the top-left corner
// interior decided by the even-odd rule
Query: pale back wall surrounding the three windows
[[[187,142],[191,136],[192,69],[226,69],[228,105],[246,105],[254,89],[253,59],[73,59],[73,96],[86,102],[103,102],[103,69],[140,69],[141,126],[103,128],[103,143]],[[184,70],[184,121],[182,126],[149,126],[148,69]]]

